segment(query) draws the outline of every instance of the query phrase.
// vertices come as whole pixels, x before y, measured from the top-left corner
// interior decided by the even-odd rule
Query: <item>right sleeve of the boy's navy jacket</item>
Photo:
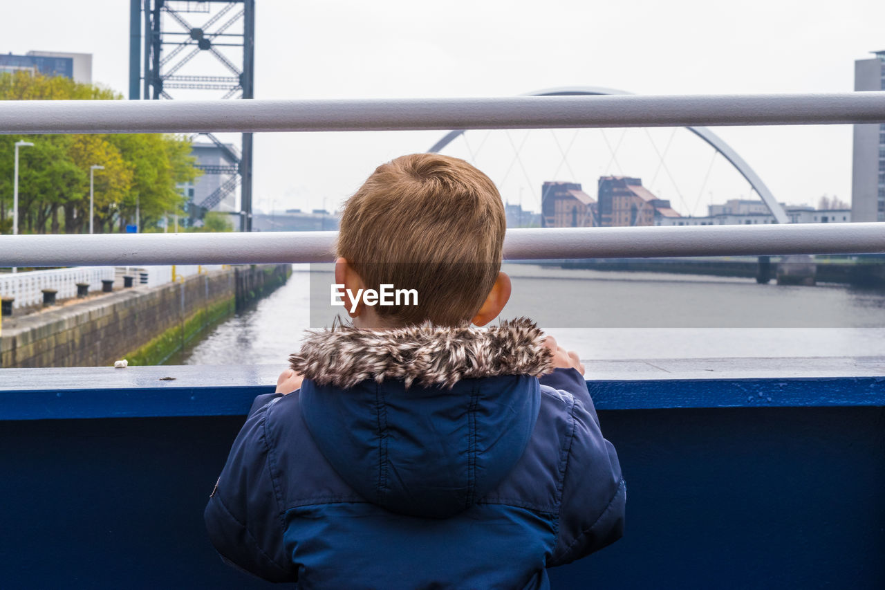
[[[584,377],[555,369],[541,384],[572,395],[572,440],[566,459],[558,534],[548,567],[564,565],[619,540],[627,486],[614,446],[603,438]]]

